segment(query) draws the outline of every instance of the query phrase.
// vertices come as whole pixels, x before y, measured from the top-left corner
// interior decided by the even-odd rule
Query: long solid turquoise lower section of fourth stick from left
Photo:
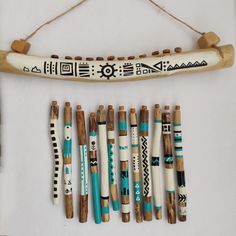
[[[92,178],[92,191],[93,191],[93,213],[96,224],[102,222],[101,216],[101,203],[100,203],[100,187],[99,187],[99,174],[91,173]]]

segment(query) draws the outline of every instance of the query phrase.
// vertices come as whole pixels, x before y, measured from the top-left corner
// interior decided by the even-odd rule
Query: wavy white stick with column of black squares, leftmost
[[[62,185],[63,156],[58,135],[59,106],[56,101],[52,102],[50,111],[50,135],[54,153],[54,179],[53,179],[53,204],[58,205]]]

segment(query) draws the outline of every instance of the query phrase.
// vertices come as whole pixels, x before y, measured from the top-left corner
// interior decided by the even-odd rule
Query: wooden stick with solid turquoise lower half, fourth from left
[[[92,180],[93,193],[93,213],[96,224],[100,224],[101,217],[101,202],[100,202],[100,183],[97,160],[97,119],[96,113],[90,113],[89,116],[89,158],[90,172]]]

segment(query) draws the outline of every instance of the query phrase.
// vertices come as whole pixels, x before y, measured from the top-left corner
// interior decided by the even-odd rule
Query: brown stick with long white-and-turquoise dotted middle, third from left
[[[77,106],[76,123],[80,151],[79,221],[85,223],[88,217],[88,151],[84,111],[80,105]]]

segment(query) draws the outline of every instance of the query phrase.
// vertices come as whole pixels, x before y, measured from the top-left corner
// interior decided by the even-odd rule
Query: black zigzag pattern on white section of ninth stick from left
[[[147,197],[150,191],[150,172],[148,168],[148,147],[147,138],[145,136],[141,137],[141,147],[142,147],[142,165],[143,165],[143,191],[144,196]]]

